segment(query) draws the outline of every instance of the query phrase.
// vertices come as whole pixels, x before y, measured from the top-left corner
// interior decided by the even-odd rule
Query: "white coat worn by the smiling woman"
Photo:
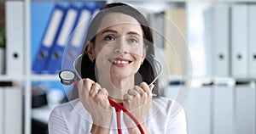
[[[147,117],[147,125],[151,134],[186,134],[186,118],[182,107],[173,111],[175,101],[154,96],[152,108]],[[177,103],[176,103],[177,104]],[[115,110],[113,109],[113,112]],[[122,114],[122,113],[121,113]],[[113,117],[115,115],[113,114]],[[122,117],[122,116],[121,116]],[[79,99],[61,104],[49,116],[49,134],[89,134],[92,119]],[[125,124],[122,120],[122,127]],[[116,119],[113,119],[110,134],[117,134]],[[128,131],[123,128],[124,134]]]

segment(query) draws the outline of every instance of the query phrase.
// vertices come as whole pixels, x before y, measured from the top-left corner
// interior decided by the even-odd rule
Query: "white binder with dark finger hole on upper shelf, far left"
[[[24,75],[24,3],[5,2],[6,16],[6,74]],[[1,64],[2,65],[2,64]]]

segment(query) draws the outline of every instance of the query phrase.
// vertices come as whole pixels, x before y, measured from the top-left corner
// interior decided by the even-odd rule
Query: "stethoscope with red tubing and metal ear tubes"
[[[76,76],[79,78],[79,80],[82,80],[82,77],[79,75],[78,71],[76,70],[76,61],[81,58],[84,54],[80,54],[76,59],[74,59],[73,61],[73,70],[61,70],[61,72],[59,73],[59,77],[61,79],[61,83],[63,85],[71,85],[73,83],[77,84],[78,81],[76,80]],[[151,59],[154,59],[154,61],[156,61],[156,63],[159,65],[160,71],[158,73],[158,75],[156,75],[156,77],[154,78],[154,80],[149,84],[152,85],[159,77],[160,74],[162,72],[162,67],[161,64],[158,60],[156,60],[154,58],[154,55],[151,54],[150,57]],[[109,103],[111,104],[111,106],[116,110],[116,117],[117,117],[117,127],[118,127],[118,133],[122,134],[122,130],[121,130],[121,117],[120,117],[120,111],[122,110],[123,112],[125,112],[125,114],[127,114],[131,120],[134,121],[134,123],[137,125],[139,131],[144,134],[143,131],[143,127],[139,124],[139,122],[137,121],[137,119],[127,110],[125,109],[125,107],[123,107],[121,104],[114,102],[112,99],[108,98]]]

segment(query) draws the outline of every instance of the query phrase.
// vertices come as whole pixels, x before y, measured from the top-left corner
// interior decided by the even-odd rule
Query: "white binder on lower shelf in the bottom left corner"
[[[22,134],[22,90],[0,87],[0,133]]]

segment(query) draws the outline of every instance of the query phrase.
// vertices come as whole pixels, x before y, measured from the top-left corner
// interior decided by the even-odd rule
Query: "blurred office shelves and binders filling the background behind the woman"
[[[189,134],[256,133],[255,2],[1,0],[0,134],[48,133],[50,111],[73,88],[58,72],[73,70],[85,24],[113,2],[148,18],[163,68],[157,93],[182,104]]]

